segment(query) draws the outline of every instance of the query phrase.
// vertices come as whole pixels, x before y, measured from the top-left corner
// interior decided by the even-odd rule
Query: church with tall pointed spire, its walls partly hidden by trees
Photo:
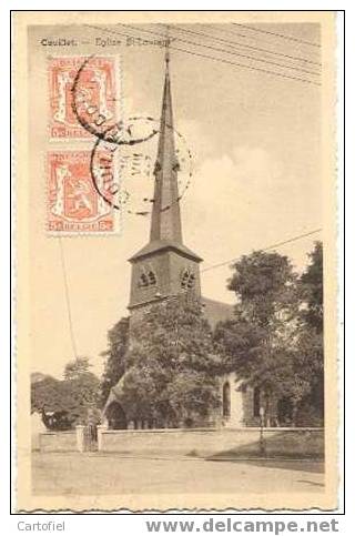
[[[233,306],[201,295],[202,259],[184,244],[182,234],[179,161],[173,125],[170,60],[166,52],[150,237],[148,244],[129,260],[132,265],[128,305],[130,325],[144,322],[144,312],[151,304],[189,291],[200,301],[205,317],[211,327],[214,327],[217,322],[233,316]],[[221,405],[219,414],[211,416],[211,423],[225,427],[257,426],[261,398],[258,390],[242,387],[233,373],[220,377],[219,384]],[[111,428],[133,427],[125,419],[118,386],[110,392],[104,416]],[[145,423],[140,423],[139,427],[145,427]]]

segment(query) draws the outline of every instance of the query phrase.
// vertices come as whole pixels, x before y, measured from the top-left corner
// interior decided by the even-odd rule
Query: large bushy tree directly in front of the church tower
[[[189,295],[153,305],[131,328],[120,401],[129,419],[161,425],[197,423],[219,405],[212,334],[200,303]]]

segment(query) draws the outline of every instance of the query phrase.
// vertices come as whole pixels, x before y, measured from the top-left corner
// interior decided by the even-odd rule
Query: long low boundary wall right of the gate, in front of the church
[[[125,455],[257,456],[260,428],[100,429],[99,449]],[[324,456],[323,428],[264,428],[267,456]]]

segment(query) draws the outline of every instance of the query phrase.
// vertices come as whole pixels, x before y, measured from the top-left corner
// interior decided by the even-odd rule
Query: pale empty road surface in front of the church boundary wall
[[[324,463],[310,459],[133,457],[32,453],[34,495],[320,493]]]

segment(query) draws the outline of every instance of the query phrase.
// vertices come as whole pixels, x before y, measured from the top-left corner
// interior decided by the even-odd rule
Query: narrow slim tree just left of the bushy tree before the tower
[[[100,385],[100,405],[104,406],[110,390],[116,385],[124,373],[124,355],[129,344],[130,318],[121,318],[108,334],[109,348],[102,352],[105,357],[104,371]]]

